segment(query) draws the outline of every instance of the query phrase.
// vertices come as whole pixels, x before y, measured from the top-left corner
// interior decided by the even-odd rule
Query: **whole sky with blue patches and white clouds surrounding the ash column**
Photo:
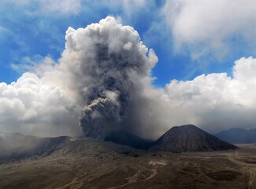
[[[79,134],[73,125],[85,102],[59,69],[66,31],[108,16],[137,31],[158,59],[143,85],[161,120],[153,137],[180,124],[256,128],[255,9],[254,0],[2,0],[0,132]]]

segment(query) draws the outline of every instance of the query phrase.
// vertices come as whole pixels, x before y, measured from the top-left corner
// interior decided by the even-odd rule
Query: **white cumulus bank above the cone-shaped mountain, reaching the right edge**
[[[162,117],[173,124],[196,124],[210,132],[225,128],[255,128],[256,59],[235,61],[232,77],[227,73],[197,76],[194,80],[173,80],[161,96]]]

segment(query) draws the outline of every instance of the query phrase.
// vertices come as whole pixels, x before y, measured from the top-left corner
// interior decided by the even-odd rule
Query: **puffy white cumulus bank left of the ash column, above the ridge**
[[[58,86],[26,72],[17,82],[0,83],[2,132],[31,135],[79,135],[74,100]]]

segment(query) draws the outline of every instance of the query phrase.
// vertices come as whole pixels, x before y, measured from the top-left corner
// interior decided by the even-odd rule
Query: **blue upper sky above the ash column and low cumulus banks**
[[[186,39],[187,41],[184,40],[184,43],[177,48],[177,39],[173,36],[176,35],[174,33],[176,28],[173,28],[172,20],[179,15],[172,16],[169,13],[172,11],[172,6],[175,6],[175,1],[76,1],[74,3],[75,1],[65,0],[57,2],[62,3],[63,7],[50,5],[52,3],[50,1],[45,1],[45,3],[43,1],[0,2],[1,82],[10,83],[17,80],[24,70],[13,70],[12,65],[26,63],[24,57],[30,57],[37,61],[39,57],[50,56],[57,61],[65,48],[65,31],[69,26],[84,28],[87,24],[98,22],[108,15],[120,18],[124,25],[131,25],[139,32],[143,43],[155,50],[159,61],[153,70],[153,75],[157,78],[154,85],[158,87],[164,87],[173,79],[192,80],[202,73],[230,73],[233,62],[239,57],[255,55],[254,41],[245,39],[243,35],[245,31],[241,31],[240,28],[231,29],[221,36],[221,39],[217,39],[222,44],[216,49],[211,46],[213,39],[210,39],[210,36],[206,36],[206,39],[202,40],[189,41]],[[70,2],[70,5],[66,2]],[[172,2],[173,5],[171,5]],[[199,4],[200,1],[195,3]],[[223,2],[223,6],[226,6],[225,3]],[[182,9],[181,5],[180,7]],[[166,9],[169,10],[166,11]],[[191,9],[193,9],[192,6]],[[200,6],[195,9],[198,9],[198,12],[202,11]],[[202,9],[204,8],[202,7]],[[218,6],[217,9],[219,9]],[[191,13],[193,12],[191,11]],[[204,13],[202,11],[202,14]],[[225,16],[224,14],[223,17]],[[184,20],[187,19],[186,15],[180,17],[184,17]],[[216,19],[221,18],[217,17]],[[241,22],[243,19],[241,18]],[[221,25],[213,23],[216,26],[207,28],[205,21],[211,24],[210,20],[212,17],[209,20],[202,20],[201,25],[200,23],[195,24],[195,27],[201,26],[202,28],[198,28],[198,30],[202,32],[212,29],[213,35],[219,35]],[[234,20],[234,22],[239,21]],[[191,25],[191,27],[194,26]],[[203,31],[204,28],[206,31]],[[197,32],[197,30],[192,32]],[[222,51],[227,52],[222,53]],[[195,53],[202,54],[192,57]]]

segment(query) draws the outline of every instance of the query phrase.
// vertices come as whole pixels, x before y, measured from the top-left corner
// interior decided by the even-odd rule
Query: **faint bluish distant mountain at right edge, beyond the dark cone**
[[[256,143],[256,129],[230,128],[215,134],[219,139],[228,143]]]

